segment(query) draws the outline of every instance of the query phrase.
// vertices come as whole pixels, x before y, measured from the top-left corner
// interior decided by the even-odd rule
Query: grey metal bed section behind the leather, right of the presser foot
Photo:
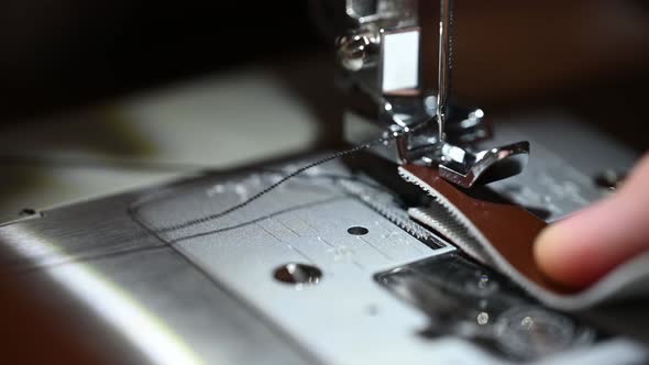
[[[531,151],[525,170],[488,187],[526,207],[547,221],[556,221],[607,197],[610,190],[594,182],[602,170],[626,172],[638,156],[570,114],[546,111],[503,120],[493,141],[529,140]],[[552,131],[560,129],[562,139]],[[593,161],[596,158],[597,161]]]

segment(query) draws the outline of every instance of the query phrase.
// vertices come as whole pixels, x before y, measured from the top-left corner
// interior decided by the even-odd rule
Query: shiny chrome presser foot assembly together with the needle
[[[421,14],[419,8],[416,0],[346,1],[351,25],[338,40],[338,60],[343,77],[349,79],[350,97],[365,97],[378,110],[373,121],[378,128],[372,132],[366,125],[353,125],[367,121],[348,114],[346,139],[358,144],[376,139],[376,132],[418,128],[417,132],[399,137],[393,155],[386,157],[397,163],[439,166],[443,178],[470,188],[493,166],[510,162],[513,156],[527,155],[529,143],[476,151],[475,144],[493,133],[484,112],[450,106],[453,0],[440,1],[437,90],[422,85],[421,54],[431,45],[421,42],[419,24],[429,14]],[[491,174],[491,179],[504,179],[520,168]]]

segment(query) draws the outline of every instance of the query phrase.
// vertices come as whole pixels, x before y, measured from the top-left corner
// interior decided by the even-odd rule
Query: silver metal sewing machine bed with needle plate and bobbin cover
[[[556,122],[570,141],[592,142],[580,146],[588,158],[552,145],[544,126]],[[601,168],[588,165],[591,157],[607,165],[631,162],[619,146],[557,114],[520,118],[516,129],[501,132],[507,140],[530,135],[547,148],[538,148],[525,174],[490,187],[548,220],[608,193],[590,178]],[[95,354],[109,363],[648,358],[645,346],[616,335],[625,322],[615,311],[600,330],[585,322],[587,313],[582,319],[540,306],[507,277],[413,222],[403,200],[416,187],[398,176],[397,187],[370,177],[372,168],[394,177],[393,164],[373,154],[352,157],[297,176],[215,220],[201,218],[218,215],[314,157],[189,177],[25,217],[0,226],[2,277],[15,279],[22,296],[34,297],[33,307],[45,306],[61,320],[59,330],[77,339],[76,347],[102,339]],[[416,198],[424,198],[421,191]],[[649,341],[642,321],[632,317],[630,327]]]

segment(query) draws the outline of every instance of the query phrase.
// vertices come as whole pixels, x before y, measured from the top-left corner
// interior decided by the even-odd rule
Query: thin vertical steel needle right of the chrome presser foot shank
[[[439,142],[444,142],[444,123],[450,92],[450,73],[452,68],[452,26],[453,0],[440,0],[439,22],[439,71],[437,95],[437,122],[439,126]]]

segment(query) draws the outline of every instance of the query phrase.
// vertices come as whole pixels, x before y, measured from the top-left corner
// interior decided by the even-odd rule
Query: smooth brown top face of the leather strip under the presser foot
[[[557,294],[575,291],[548,279],[536,264],[534,242],[547,225],[543,220],[519,206],[473,198],[441,178],[437,168],[416,165],[403,167],[443,195],[529,280]]]

